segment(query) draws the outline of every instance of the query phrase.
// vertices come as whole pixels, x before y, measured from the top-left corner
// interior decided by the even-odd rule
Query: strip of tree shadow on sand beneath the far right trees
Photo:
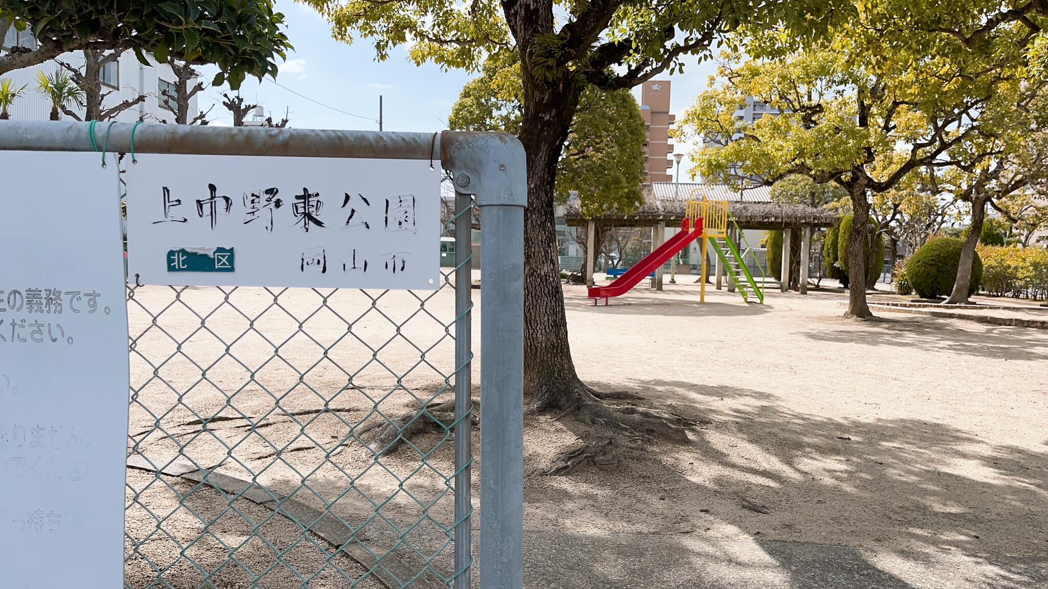
[[[1048,359],[1045,334],[1024,327],[989,327],[971,325],[970,329],[941,319],[919,317],[901,319],[878,318],[864,325],[865,331],[810,330],[802,335],[816,342],[896,346],[917,350],[946,350],[987,358]]]

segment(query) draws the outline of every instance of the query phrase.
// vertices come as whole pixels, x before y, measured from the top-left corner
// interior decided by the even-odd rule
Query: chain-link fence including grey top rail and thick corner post
[[[520,589],[519,141],[167,125],[141,125],[135,135],[136,127],[16,122],[0,129],[0,149],[429,159],[454,178],[454,214],[441,226],[455,263],[424,292],[143,286],[132,278],[125,587],[471,587],[471,433],[479,419],[471,237],[483,210],[480,248],[492,263],[481,277],[487,305],[477,349],[489,358],[478,372],[492,411],[479,444],[489,508],[480,521],[480,583]]]

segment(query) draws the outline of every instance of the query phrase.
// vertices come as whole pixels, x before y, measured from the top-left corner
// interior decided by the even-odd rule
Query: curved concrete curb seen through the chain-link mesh
[[[394,551],[397,537],[392,531],[388,535],[390,538],[383,538],[381,542],[371,542],[375,540],[370,538],[372,531],[370,529],[362,530],[361,528],[366,527],[363,523],[359,528],[353,530],[351,525],[344,523],[329,511],[322,511],[301,501],[288,499],[286,496],[274,493],[258,483],[200,470],[191,464],[172,461],[157,467],[145,456],[133,454],[128,456],[127,465],[129,468],[137,471],[147,471],[205,484],[232,499],[244,499],[265,507],[287,518],[296,525],[305,524],[310,533],[330,544],[336,551],[345,552],[390,589],[400,589],[405,583],[408,583],[413,589],[446,589],[447,587],[440,583],[432,572],[425,572],[425,574],[420,574],[415,579],[418,573],[412,571],[419,570],[419,567],[410,565]],[[365,543],[366,540],[369,542]]]

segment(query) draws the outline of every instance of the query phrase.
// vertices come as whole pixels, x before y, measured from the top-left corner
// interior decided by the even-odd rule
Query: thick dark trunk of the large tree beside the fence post
[[[545,85],[544,85],[545,86]],[[564,290],[556,252],[553,183],[556,162],[578,105],[570,80],[545,88],[525,85],[520,139],[527,153],[524,213],[524,390],[539,410],[563,410],[586,390],[568,346]]]

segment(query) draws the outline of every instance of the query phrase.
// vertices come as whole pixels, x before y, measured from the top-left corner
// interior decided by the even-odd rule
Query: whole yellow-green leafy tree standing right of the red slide
[[[692,155],[693,174],[707,179],[803,174],[848,193],[855,222],[839,256],[851,272],[846,314],[856,318],[872,315],[864,247],[876,231],[871,195],[916,170],[949,166],[949,150],[981,133],[977,119],[998,87],[1019,75],[1007,31],[995,32],[991,50],[971,51],[936,32],[886,34],[875,26],[883,20],[877,9],[864,5],[801,50],[785,31],[748,30],[755,59],[740,64],[741,54],[728,52],[726,82],[699,95],[677,133],[703,145]],[[746,95],[783,114],[736,118]]]

